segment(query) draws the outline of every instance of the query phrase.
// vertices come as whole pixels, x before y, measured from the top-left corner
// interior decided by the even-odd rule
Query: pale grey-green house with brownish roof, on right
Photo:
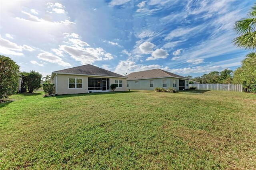
[[[154,90],[156,87],[172,87],[175,90],[185,90],[188,89],[188,80],[161,69],[132,72],[127,75],[127,89]]]

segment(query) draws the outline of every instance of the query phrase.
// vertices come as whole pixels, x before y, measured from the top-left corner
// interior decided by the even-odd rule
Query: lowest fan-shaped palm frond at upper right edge
[[[232,43],[244,49],[256,49],[256,31],[236,37]]]

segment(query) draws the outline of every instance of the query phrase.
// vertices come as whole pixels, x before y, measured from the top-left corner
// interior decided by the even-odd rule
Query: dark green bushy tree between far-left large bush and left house
[[[24,87],[28,87],[28,92],[33,93],[34,90],[40,88],[42,75],[39,72],[30,71],[22,72],[22,82]]]

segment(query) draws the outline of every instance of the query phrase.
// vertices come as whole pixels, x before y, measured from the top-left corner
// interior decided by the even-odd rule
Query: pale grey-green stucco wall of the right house
[[[153,87],[150,87],[150,80],[153,80]],[[154,79],[144,79],[144,80],[127,80],[127,84],[129,84],[129,87],[127,89],[131,90],[154,90],[156,87],[163,87],[163,80],[166,80],[167,87],[166,89],[172,87],[175,90],[179,90],[179,80],[185,80],[185,79],[179,79],[179,78],[154,78]],[[176,87],[173,87],[173,80],[177,80]],[[135,82],[138,81],[136,84]],[[186,81],[185,80],[185,89],[188,88],[186,86]]]

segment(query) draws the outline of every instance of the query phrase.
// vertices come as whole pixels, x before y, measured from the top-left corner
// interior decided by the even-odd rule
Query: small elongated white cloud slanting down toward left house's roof
[[[48,52],[38,54],[37,58],[44,60],[44,61],[48,61],[50,63],[56,63],[60,66],[71,66],[70,63],[66,63],[66,62],[62,61],[62,59],[60,57],[53,55],[52,53],[48,53]]]

